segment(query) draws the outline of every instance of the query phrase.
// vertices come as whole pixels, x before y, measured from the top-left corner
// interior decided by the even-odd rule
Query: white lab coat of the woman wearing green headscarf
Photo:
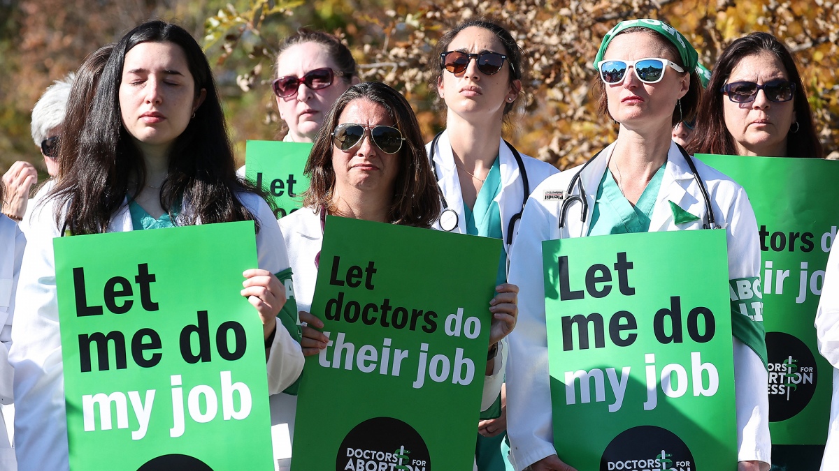
[[[554,448],[550,408],[548,346],[545,330],[545,285],[542,273],[542,241],[581,237],[588,233],[597,186],[607,171],[614,144],[603,150],[581,174],[586,189],[588,215],[581,222],[582,204],[568,207],[565,227],[559,229],[561,201],[545,200],[546,191],[565,191],[572,168],[546,179],[530,196],[519,235],[513,244],[509,281],[519,285],[519,322],[509,335],[510,359],[507,371],[507,432],[512,447],[511,462],[521,470],[552,454]],[[668,200],[692,215],[706,214],[705,199],[685,158],[670,145],[664,179],[661,182],[650,231],[701,229],[702,221],[676,226]],[[758,227],[743,187],[726,175],[694,159],[711,198],[717,224],[726,228],[729,277],[759,277]],[[579,194],[575,190],[574,194]],[[732,338],[733,339],[733,338]],[[733,339],[737,409],[737,459],[769,463],[768,375],[757,354]],[[574,424],[569,424],[574,427]],[[584,440],[585,437],[581,437]]]

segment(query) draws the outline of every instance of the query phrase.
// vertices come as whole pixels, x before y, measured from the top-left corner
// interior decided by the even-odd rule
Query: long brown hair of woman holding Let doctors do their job
[[[420,124],[408,101],[399,91],[382,82],[364,82],[345,91],[320,128],[312,146],[305,173],[310,186],[303,204],[310,208],[332,205],[335,189],[335,170],[332,168],[332,131],[344,108],[355,100],[373,101],[388,111],[393,126],[402,132],[404,146],[399,150],[399,173],[393,184],[393,199],[388,210],[388,221],[399,225],[430,227],[440,215],[440,190],[425,153]]]

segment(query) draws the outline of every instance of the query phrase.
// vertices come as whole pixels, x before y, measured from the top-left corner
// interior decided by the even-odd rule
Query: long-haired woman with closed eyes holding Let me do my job
[[[281,324],[287,271],[282,235],[268,204],[236,177],[216,86],[201,47],[159,21],[126,34],[113,52],[64,168],[33,215],[24,254],[11,362],[18,398],[16,448],[24,469],[68,468],[53,238],[175,225],[253,220],[258,268],[243,273],[242,296],[263,323],[268,389],[300,375],[300,346]],[[185,276],[189,276],[189,268]]]

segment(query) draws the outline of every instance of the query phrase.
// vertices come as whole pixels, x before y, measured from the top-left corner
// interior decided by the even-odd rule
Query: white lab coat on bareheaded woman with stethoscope
[[[429,142],[425,145],[425,150],[429,155],[431,155],[431,144],[432,142]],[[521,157],[531,192],[538,184],[542,183],[542,180],[559,172],[550,163],[542,162],[537,158],[532,158],[524,154]],[[500,159],[501,191],[495,197],[495,201],[498,202],[498,212],[501,214],[501,233],[503,235],[504,249],[509,254],[510,246],[507,245],[507,233],[510,218],[519,214],[522,210],[524,199],[529,194],[524,194],[524,184],[522,183],[519,164],[502,139],[498,140],[498,158]],[[454,155],[451,153],[451,142],[449,142],[448,131],[440,134],[440,140],[437,141],[431,164],[435,166],[437,175],[440,177],[437,185],[446,198],[446,204],[448,204],[451,210],[455,210],[457,213],[457,228],[452,230],[452,232],[466,234],[466,216],[463,210],[461,180],[457,177],[457,167],[455,165]],[[516,224],[517,228],[518,226]],[[434,228],[441,230],[439,220],[435,222]]]

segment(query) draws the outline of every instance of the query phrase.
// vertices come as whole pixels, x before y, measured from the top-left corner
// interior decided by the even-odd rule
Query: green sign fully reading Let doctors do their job
[[[501,241],[330,216],[293,471],[472,469]]]

